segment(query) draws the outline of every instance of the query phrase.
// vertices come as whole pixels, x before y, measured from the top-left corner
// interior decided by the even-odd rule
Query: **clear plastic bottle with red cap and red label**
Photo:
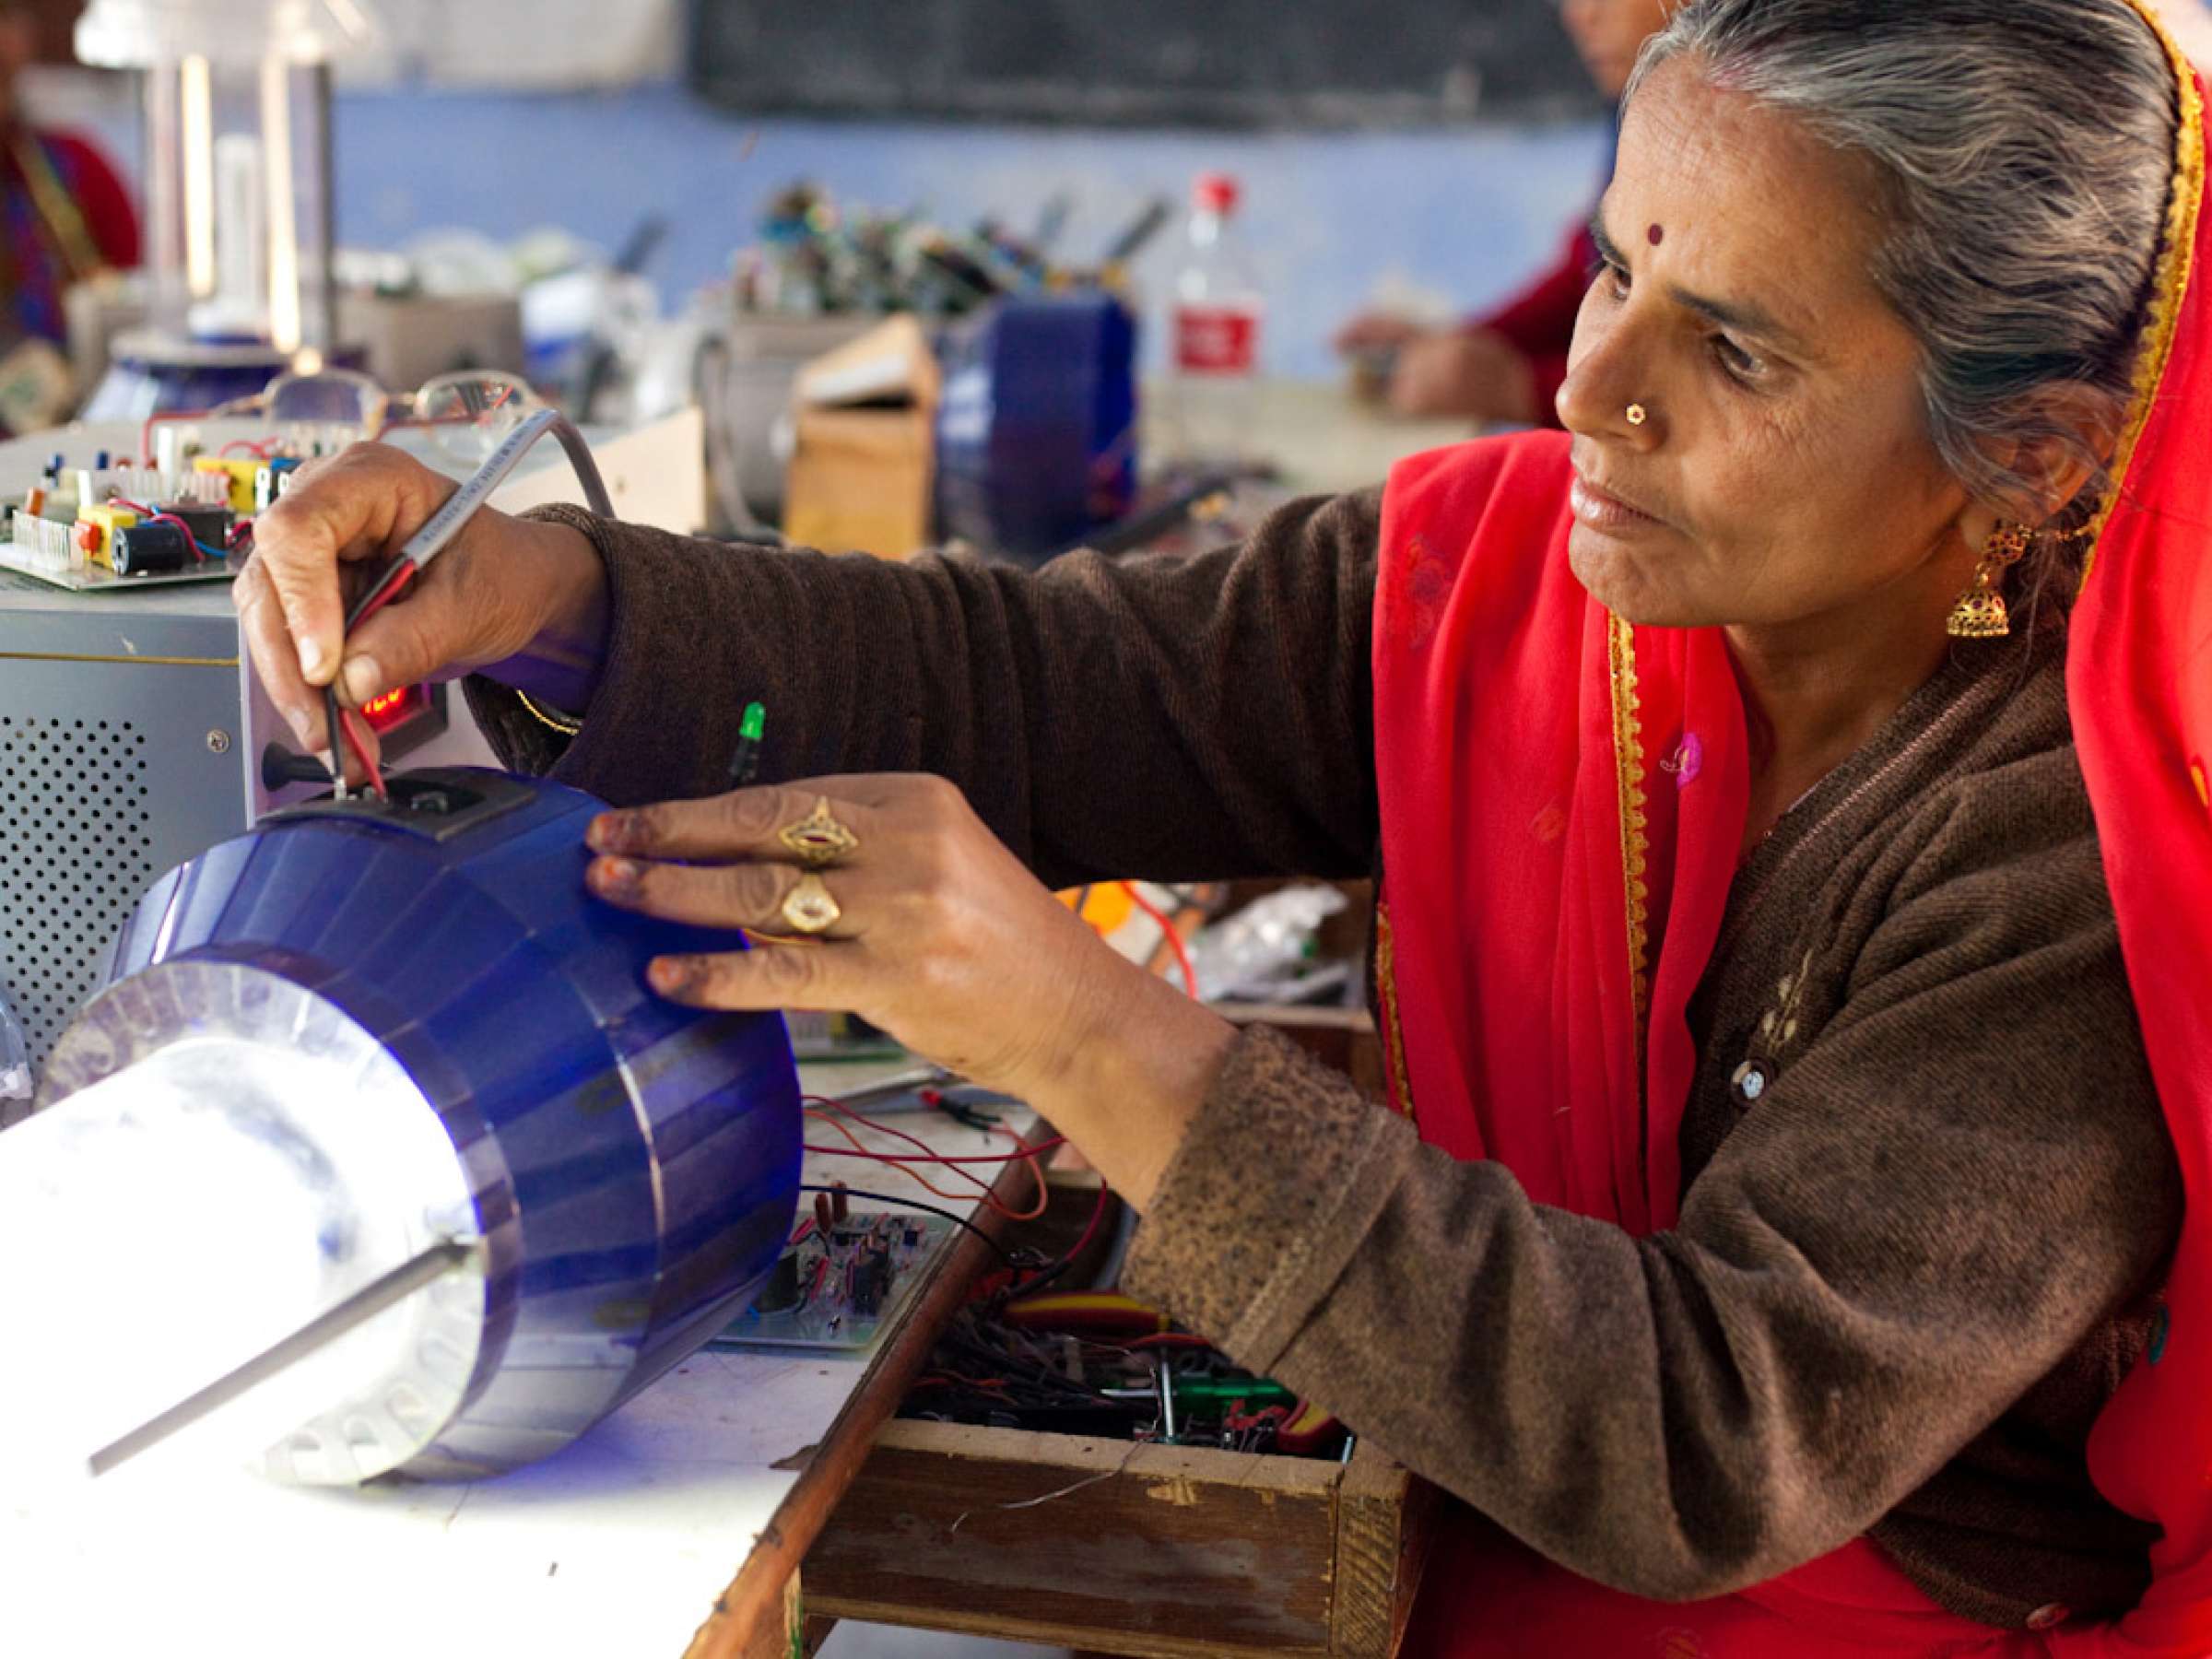
[[[1186,467],[1250,460],[1259,394],[1259,276],[1237,230],[1239,186],[1201,173],[1168,305],[1168,449]]]

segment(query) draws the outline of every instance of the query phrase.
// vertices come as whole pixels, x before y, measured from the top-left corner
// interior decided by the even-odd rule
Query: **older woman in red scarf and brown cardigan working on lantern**
[[[1464,1500],[1420,1646],[2212,1650],[2212,226],[2146,18],[1699,0],[1568,436],[1250,546],[487,513],[341,661],[341,562],[447,489],[363,449],[263,520],[254,657],[310,741],[334,675],[487,670],[515,761],[706,796],[593,889],[827,942],[655,984],[1046,1110],[1133,1290]],[[717,794],[752,697],[805,781]],[[1376,865],[1396,1113],[1037,880]]]

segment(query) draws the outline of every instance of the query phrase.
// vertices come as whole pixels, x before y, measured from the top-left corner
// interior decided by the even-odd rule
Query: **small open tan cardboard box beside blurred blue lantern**
[[[938,358],[911,316],[807,363],[792,387],[783,533],[796,546],[887,560],[929,546],[940,389]]]

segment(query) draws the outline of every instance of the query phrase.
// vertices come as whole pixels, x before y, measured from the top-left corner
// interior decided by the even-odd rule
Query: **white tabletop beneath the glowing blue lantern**
[[[942,1152],[1006,1146],[940,1113],[891,1121]],[[916,1190],[856,1159],[810,1157],[805,1179]],[[0,1657],[679,1659],[863,1369],[703,1352],[564,1453],[471,1484],[285,1489],[148,1460],[62,1500],[0,1493]]]

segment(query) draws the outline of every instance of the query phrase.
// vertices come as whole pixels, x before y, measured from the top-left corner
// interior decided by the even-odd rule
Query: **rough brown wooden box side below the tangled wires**
[[[1436,1491],[1349,1464],[891,1422],[807,1551],[810,1619],[1091,1652],[1385,1659]]]

